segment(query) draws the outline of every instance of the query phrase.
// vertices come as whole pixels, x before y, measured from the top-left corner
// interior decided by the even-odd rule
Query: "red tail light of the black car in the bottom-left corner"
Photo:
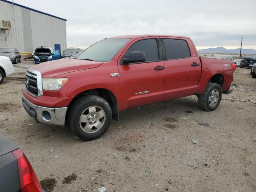
[[[21,191],[42,192],[42,187],[36,177],[36,174],[22,150],[15,150],[12,154],[16,157],[18,162]]]

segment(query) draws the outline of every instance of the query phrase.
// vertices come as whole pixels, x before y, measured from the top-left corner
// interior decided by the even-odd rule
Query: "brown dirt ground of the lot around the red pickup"
[[[235,90],[213,112],[188,96],[126,110],[90,142],[39,124],[21,104],[30,63],[0,85],[0,132],[30,160],[49,192],[255,192],[256,79],[237,68]],[[199,123],[207,123],[203,126]],[[192,137],[193,136],[193,137]],[[198,140],[193,144],[190,138]]]

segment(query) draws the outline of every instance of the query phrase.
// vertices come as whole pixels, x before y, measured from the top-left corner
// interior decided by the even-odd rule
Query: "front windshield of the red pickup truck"
[[[101,40],[84,50],[76,58],[102,62],[110,61],[129,40],[126,38]]]

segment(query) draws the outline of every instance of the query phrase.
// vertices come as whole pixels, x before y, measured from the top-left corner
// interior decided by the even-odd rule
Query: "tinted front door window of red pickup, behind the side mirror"
[[[159,60],[156,39],[144,39],[144,40],[135,42],[134,44],[132,44],[132,46],[130,46],[130,48],[124,54],[124,58],[127,57],[128,54],[133,51],[144,52],[146,57],[145,62]]]

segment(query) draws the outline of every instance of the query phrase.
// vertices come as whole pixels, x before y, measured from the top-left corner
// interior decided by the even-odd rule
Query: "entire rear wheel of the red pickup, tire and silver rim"
[[[221,96],[221,87],[216,83],[208,83],[204,92],[198,96],[198,104],[203,110],[215,110],[220,104]]]

